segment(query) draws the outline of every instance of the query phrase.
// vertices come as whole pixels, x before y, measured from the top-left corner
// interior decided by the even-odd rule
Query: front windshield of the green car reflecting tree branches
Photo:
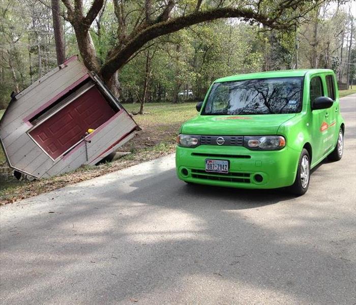
[[[202,114],[297,113],[302,110],[303,77],[215,83]]]

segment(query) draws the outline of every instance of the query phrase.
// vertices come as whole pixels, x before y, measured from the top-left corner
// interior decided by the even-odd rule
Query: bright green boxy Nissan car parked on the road
[[[288,187],[303,195],[310,170],[338,161],[345,132],[332,70],[235,75],[216,80],[199,115],[181,127],[176,172],[191,184]]]

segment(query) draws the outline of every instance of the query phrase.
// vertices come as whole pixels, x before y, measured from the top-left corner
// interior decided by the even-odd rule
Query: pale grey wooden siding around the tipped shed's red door
[[[85,143],[80,142],[69,153],[55,161],[29,137],[28,132],[34,128],[29,122],[33,115],[56,102],[58,97],[66,94],[88,76],[83,64],[77,58],[72,58],[61,68],[49,72],[16,96],[16,100],[10,104],[0,121],[0,138],[12,167],[35,177],[62,174],[82,164],[97,163],[134,136],[136,123],[125,110],[120,110],[86,137],[91,141],[86,143],[86,149]],[[91,80],[90,83],[95,82]],[[80,90],[88,85],[86,83],[80,89],[76,89],[61,101],[62,105],[71,103],[71,99],[73,100]],[[39,118],[40,122],[41,119],[42,117]],[[116,144],[120,139],[122,139],[120,143]]]

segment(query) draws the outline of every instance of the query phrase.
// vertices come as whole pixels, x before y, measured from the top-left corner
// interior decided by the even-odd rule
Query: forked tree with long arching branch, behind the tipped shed
[[[84,8],[83,0],[62,0],[67,9],[66,19],[74,28],[84,65],[98,73],[114,94],[117,94],[117,71],[146,43],[157,37],[220,18],[239,18],[263,25],[263,28],[288,31],[323,1],[113,0],[117,23],[115,45],[101,64],[89,30],[102,11],[104,0],[94,0],[89,8]]]

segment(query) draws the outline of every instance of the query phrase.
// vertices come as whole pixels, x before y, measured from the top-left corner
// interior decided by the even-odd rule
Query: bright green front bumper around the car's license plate
[[[176,147],[177,176],[186,182],[244,189],[275,189],[293,184],[300,152],[250,150],[243,146]],[[205,172],[205,159],[229,161],[229,173]],[[257,175],[257,176],[256,176]],[[262,176],[262,181],[258,181]]]

